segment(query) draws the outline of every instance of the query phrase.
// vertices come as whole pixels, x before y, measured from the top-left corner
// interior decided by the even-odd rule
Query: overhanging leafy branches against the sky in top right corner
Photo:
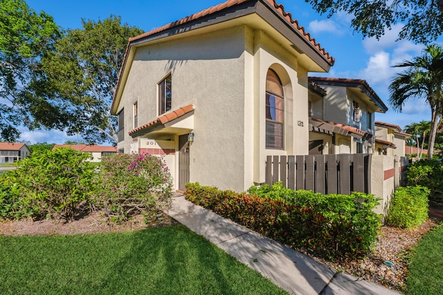
[[[327,12],[328,17],[339,11],[353,16],[351,26],[363,37],[384,35],[395,24],[405,24],[399,39],[428,44],[443,33],[443,0],[305,0],[314,10]]]

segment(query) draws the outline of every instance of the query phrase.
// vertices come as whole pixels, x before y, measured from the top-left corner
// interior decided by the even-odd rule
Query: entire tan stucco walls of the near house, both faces
[[[269,68],[284,84],[284,150],[265,148],[265,82]],[[138,48],[119,111],[125,132],[159,116],[157,84],[172,73],[172,109],[195,105],[195,142],[190,147],[190,181],[243,191],[265,181],[267,154],[308,154],[307,71],[260,30],[237,26],[198,37]],[[174,141],[178,135],[156,138]],[[168,137],[168,138],[167,138]],[[134,150],[132,137],[118,148]],[[174,170],[178,187],[178,157]]]

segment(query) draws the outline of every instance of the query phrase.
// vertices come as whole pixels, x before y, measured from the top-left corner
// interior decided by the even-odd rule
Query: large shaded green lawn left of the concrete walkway
[[[0,236],[0,294],[286,294],[186,226]]]

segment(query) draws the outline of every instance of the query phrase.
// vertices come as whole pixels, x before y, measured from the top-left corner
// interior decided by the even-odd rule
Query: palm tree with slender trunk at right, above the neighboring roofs
[[[428,45],[424,48],[424,55],[395,66],[408,67],[408,69],[397,73],[392,80],[389,86],[390,105],[401,111],[408,98],[426,99],[431,107],[428,159],[432,159],[435,136],[443,108],[443,48],[437,44]]]

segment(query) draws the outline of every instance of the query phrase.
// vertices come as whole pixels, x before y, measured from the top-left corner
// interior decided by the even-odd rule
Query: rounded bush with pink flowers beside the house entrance
[[[112,222],[136,214],[155,220],[170,205],[172,177],[163,158],[150,154],[116,154],[102,159],[102,188],[93,204]]]

